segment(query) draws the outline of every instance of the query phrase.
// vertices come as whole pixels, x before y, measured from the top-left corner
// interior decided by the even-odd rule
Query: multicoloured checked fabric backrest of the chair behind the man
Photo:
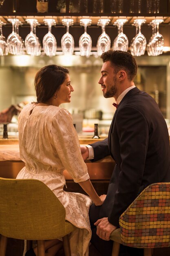
[[[170,182],[149,185],[119,218],[124,245],[170,246]]]

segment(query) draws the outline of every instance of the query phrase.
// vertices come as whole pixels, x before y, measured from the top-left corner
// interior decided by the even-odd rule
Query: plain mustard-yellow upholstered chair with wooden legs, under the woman
[[[5,256],[8,237],[37,240],[38,256],[45,256],[44,240],[63,238],[65,255],[71,256],[68,234],[76,227],[65,216],[43,182],[0,178],[0,256]]]

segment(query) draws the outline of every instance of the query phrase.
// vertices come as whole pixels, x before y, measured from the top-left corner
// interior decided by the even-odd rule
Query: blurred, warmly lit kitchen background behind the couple
[[[169,125],[170,120],[170,56],[136,57],[138,73],[135,85],[148,92],[158,103]],[[0,111],[22,101],[36,101],[34,77],[45,65],[57,64],[68,67],[71,76],[71,103],[62,104],[73,115],[73,123],[79,135],[93,135],[94,124],[99,124],[99,135],[106,136],[115,108],[113,98],[103,97],[98,84],[102,60],[90,56],[2,56],[0,58]],[[18,135],[18,116],[8,124],[9,135]],[[2,134],[3,125],[0,125]]]

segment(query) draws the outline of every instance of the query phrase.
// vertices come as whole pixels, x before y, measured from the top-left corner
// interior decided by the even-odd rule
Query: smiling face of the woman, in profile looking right
[[[62,103],[68,103],[71,102],[71,92],[73,92],[74,89],[71,85],[70,76],[66,74],[66,79],[64,83],[62,83],[60,89],[57,91],[57,103],[58,106]]]

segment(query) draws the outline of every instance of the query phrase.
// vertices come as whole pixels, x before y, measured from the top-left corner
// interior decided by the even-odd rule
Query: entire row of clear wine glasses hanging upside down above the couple
[[[8,52],[13,55],[23,54],[24,40],[18,33],[19,25],[21,22],[17,18],[8,19],[12,23],[12,33],[8,36],[7,40],[2,34],[2,25],[4,22],[0,21],[0,56],[7,55]],[[91,25],[91,19],[82,18],[80,24],[84,26],[84,34],[79,38],[79,50],[81,56],[90,56],[92,48],[92,39],[87,34],[87,26]],[[36,35],[36,26],[38,20],[35,18],[26,19],[26,22],[30,25],[31,31],[25,38],[26,53],[32,56],[39,56],[41,54],[41,42]],[[102,34],[97,40],[97,55],[110,49],[111,41],[108,34],[106,34],[105,27],[110,22],[107,18],[101,18],[98,20],[97,25],[102,27]],[[118,35],[113,41],[113,50],[128,51],[128,38],[123,32],[124,23],[127,22],[125,18],[119,18],[113,25],[117,26]],[[146,49],[146,38],[141,33],[141,25],[146,22],[145,19],[138,18],[134,20],[134,26],[136,27],[136,35],[130,42],[130,52],[133,56],[144,55]],[[152,26],[152,36],[147,45],[147,52],[149,56],[158,56],[163,52],[163,36],[159,33],[159,24],[163,22],[163,19],[155,19],[150,22]],[[73,19],[64,18],[62,20],[63,25],[66,26],[66,34],[62,36],[61,47],[64,55],[71,55],[74,52],[74,38],[69,33],[69,27],[73,25]],[[44,19],[44,24],[48,26],[48,33],[43,38],[43,48],[47,56],[55,56],[57,51],[57,40],[51,33],[51,27],[56,24],[54,19]]]

